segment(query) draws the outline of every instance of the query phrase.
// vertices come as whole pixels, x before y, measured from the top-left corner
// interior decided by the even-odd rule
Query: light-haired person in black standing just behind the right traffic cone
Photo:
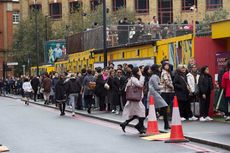
[[[190,88],[186,79],[186,71],[187,69],[184,65],[179,65],[173,80],[182,121],[192,117],[191,105],[189,103]]]

